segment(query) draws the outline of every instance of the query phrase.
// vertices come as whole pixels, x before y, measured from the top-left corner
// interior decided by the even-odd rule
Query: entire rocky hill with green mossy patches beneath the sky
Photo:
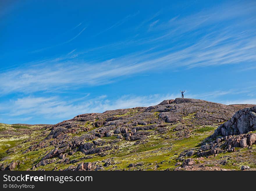
[[[81,114],[55,125],[0,124],[0,167],[254,169],[255,110],[248,104],[176,98],[156,106]]]

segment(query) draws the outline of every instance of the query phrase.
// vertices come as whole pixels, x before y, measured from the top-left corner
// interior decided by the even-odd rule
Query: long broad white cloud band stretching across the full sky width
[[[250,31],[242,35],[232,34],[227,28],[225,32],[216,33],[207,34],[195,44],[178,50],[140,51],[103,62],[58,58],[43,60],[37,65],[25,65],[1,72],[1,94],[59,90],[74,88],[76,85],[102,85],[122,76],[166,67],[175,70],[256,61],[256,38]]]

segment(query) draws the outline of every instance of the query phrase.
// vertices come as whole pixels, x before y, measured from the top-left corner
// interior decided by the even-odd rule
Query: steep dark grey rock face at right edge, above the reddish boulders
[[[211,138],[228,135],[239,135],[256,130],[256,106],[239,110],[224,124],[221,124]]]

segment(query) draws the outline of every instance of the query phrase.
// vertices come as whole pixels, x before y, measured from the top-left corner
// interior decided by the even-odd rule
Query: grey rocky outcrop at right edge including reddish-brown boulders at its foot
[[[214,134],[202,142],[196,149],[198,156],[234,152],[236,147],[246,148],[256,144],[256,106],[237,111],[231,119],[221,124]],[[251,132],[251,133],[250,133]],[[215,139],[212,141],[212,139]]]

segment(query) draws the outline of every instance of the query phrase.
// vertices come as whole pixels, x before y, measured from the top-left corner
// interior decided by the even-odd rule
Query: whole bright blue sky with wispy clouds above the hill
[[[0,122],[185,97],[256,104],[255,1],[0,1]]]

